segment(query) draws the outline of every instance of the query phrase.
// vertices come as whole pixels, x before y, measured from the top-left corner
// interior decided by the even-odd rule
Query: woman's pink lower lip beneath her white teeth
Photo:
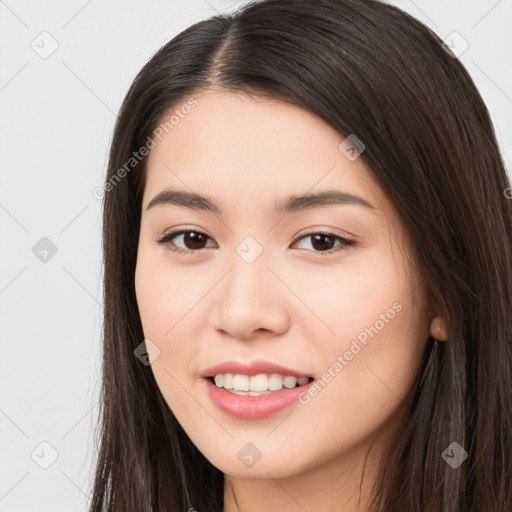
[[[307,391],[309,386],[315,382],[313,380],[303,386],[272,391],[268,395],[250,396],[230,393],[224,388],[219,388],[209,379],[204,380],[210,398],[221,411],[245,420],[265,418],[281,411],[297,402],[299,395]]]

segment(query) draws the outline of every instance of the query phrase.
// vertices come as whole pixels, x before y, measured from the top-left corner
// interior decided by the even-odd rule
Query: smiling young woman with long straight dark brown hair
[[[176,36],[112,141],[90,510],[512,510],[510,186],[395,7]]]

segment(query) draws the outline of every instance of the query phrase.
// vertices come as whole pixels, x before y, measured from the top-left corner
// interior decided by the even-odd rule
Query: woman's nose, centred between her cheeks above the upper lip
[[[272,337],[289,328],[290,291],[261,255],[248,263],[238,254],[217,287],[214,326],[235,338]]]

